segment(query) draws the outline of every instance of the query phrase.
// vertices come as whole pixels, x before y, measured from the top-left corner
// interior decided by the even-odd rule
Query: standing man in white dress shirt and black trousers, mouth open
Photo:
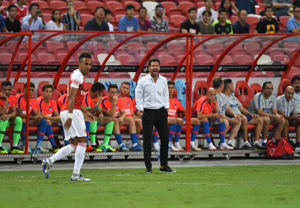
[[[167,166],[169,108],[166,78],[158,75],[160,70],[158,58],[148,60],[149,74],[138,80],[135,88],[136,109],[140,111],[143,129],[143,149],[146,174],[152,173],[151,143],[153,125],[160,136],[160,173],[175,173]]]

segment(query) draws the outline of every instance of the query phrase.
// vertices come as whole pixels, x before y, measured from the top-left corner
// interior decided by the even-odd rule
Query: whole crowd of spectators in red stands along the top
[[[299,32],[299,1],[271,0],[270,5],[261,10],[257,8],[255,0],[235,0],[235,3],[230,0],[222,0],[218,10],[214,10],[214,0],[204,0],[204,6],[188,9],[188,18],[180,22],[178,28],[180,28],[179,32],[193,34],[278,33],[280,17],[290,15],[291,18],[286,23],[286,32]],[[59,9],[54,9],[51,20],[48,22],[45,21],[42,10],[35,2],[31,3],[29,7],[25,5],[27,0],[17,0],[8,7],[3,6],[2,2],[3,0],[0,0],[0,32],[37,29],[76,31],[80,29],[82,19],[80,13],[74,9],[74,0],[66,1],[67,12],[63,14]],[[138,16],[135,16],[136,10]],[[162,4],[156,5],[153,16],[147,17],[147,12],[146,7],[136,8],[132,4],[127,4],[125,15],[118,21],[117,31],[170,31],[168,21],[163,18],[165,9]],[[115,31],[116,28],[110,23],[112,15],[110,9],[97,6],[94,9],[94,17],[85,23],[83,30]],[[252,30],[247,22],[249,16],[257,18]]]

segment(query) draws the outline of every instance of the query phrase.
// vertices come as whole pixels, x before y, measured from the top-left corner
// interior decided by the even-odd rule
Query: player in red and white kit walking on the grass
[[[88,74],[90,68],[91,55],[88,52],[82,52],[79,55],[79,68],[70,75],[66,100],[60,112],[65,134],[64,140],[68,140],[70,144],[61,148],[49,159],[42,160],[42,171],[45,178],[49,178],[49,168],[55,161],[76,150],[71,181],[91,181],[80,175],[86,149],[85,124],[81,111],[86,114],[90,122],[94,121],[93,115],[82,106],[84,92],[86,91],[84,75]]]

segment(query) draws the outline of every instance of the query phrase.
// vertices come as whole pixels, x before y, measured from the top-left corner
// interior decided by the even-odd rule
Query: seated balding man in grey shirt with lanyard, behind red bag
[[[283,128],[283,138],[288,137],[288,127],[296,126],[296,141],[300,137],[300,117],[297,114],[297,109],[292,99],[294,96],[294,88],[288,86],[284,90],[284,94],[276,98],[277,111],[285,118],[285,125]]]

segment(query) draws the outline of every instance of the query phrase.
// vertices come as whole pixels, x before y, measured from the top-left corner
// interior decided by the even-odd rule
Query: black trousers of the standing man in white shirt
[[[144,114],[142,117],[142,140],[146,168],[152,168],[151,144],[153,125],[157,129],[157,132],[160,137],[160,165],[166,166],[168,155],[168,126],[167,112],[163,107],[157,110],[144,109]]]

